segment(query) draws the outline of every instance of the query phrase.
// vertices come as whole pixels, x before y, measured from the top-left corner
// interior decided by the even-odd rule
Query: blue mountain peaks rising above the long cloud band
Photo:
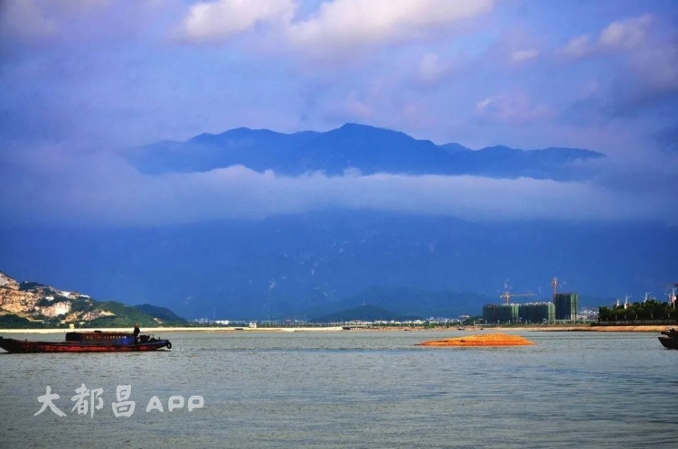
[[[476,174],[563,181],[591,176],[595,169],[582,163],[604,157],[576,148],[524,151],[491,146],[475,151],[456,143],[435,145],[398,131],[356,124],[325,133],[237,128],[127,152],[131,164],[151,174],[206,172],[241,164],[258,172],[273,170],[287,175],[312,171],[337,175],[353,168],[365,174]]]

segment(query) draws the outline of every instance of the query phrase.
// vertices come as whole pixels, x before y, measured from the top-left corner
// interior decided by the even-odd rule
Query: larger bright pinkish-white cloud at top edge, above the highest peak
[[[347,49],[419,36],[428,28],[486,14],[494,0],[335,0],[289,29],[291,41],[313,51]]]

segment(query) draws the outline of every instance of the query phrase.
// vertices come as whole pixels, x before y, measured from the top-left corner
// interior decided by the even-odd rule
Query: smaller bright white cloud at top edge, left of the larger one
[[[289,23],[294,0],[221,0],[191,6],[177,34],[188,41],[225,40],[259,23]]]

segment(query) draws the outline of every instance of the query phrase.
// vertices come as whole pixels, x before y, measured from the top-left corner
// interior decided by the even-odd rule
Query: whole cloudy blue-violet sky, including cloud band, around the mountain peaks
[[[476,210],[468,217],[524,210],[530,218],[548,216],[558,198],[560,210],[579,208],[579,218],[676,221],[673,0],[0,5],[0,186],[8,192],[0,206],[22,209],[16,215],[25,220],[38,206],[82,218],[138,216],[153,204],[140,222],[164,223],[177,208],[203,220],[215,208],[266,216],[324,203]],[[600,179],[575,185],[391,177],[383,189],[374,177],[287,179],[241,168],[150,179],[116,156],[239,126],[325,131],[346,122],[472,148],[589,148],[607,154],[608,166]],[[468,203],[431,198],[439,185],[466,192]],[[353,191],[371,198],[356,203]],[[242,192],[278,197],[254,207],[251,198],[238,202]],[[502,200],[473,206],[493,192]],[[31,201],[34,208],[25,206]],[[412,206],[422,202],[426,208]]]

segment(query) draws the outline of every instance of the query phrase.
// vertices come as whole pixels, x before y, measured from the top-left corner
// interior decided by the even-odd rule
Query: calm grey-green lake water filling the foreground
[[[678,447],[678,351],[657,334],[414,346],[465,333],[171,332],[157,335],[167,352],[3,353],[0,447]],[[93,416],[71,413],[83,383],[103,388]],[[48,385],[66,416],[33,416]],[[131,417],[114,416],[118,385],[131,385]],[[146,412],[154,396],[164,412]],[[171,396],[204,406],[170,412]]]

